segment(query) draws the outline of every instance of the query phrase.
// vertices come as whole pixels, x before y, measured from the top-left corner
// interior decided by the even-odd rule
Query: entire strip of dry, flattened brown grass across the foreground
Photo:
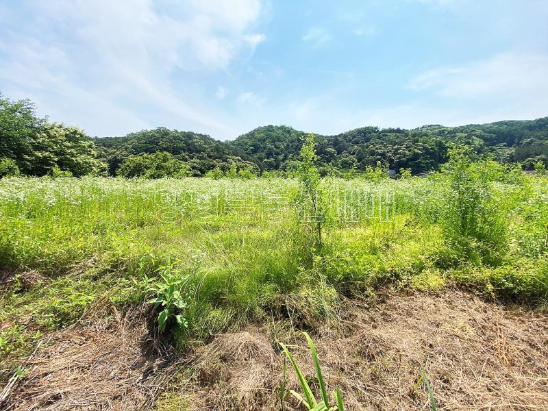
[[[119,316],[60,332],[12,388],[8,410],[150,408],[160,390],[190,410],[279,410],[286,343],[309,375],[306,341],[288,322],[221,334],[173,360],[151,348],[146,319]],[[489,303],[460,290],[351,301],[312,334],[329,389],[348,410],[548,410],[548,314]],[[159,352],[164,352],[160,355]],[[176,386],[169,381],[179,371]],[[299,392],[288,366],[288,389]],[[290,397],[288,410],[302,409]]]

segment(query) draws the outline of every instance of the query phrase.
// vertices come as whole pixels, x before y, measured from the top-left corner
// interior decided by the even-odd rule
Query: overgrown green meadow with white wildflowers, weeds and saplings
[[[149,305],[178,349],[410,288],[546,307],[547,177],[455,151],[426,179],[373,180],[1,179],[3,374],[105,301]]]

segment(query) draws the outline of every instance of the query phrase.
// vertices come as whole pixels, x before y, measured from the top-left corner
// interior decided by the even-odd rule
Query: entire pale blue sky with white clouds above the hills
[[[3,0],[0,91],[114,136],[548,115],[546,0]]]

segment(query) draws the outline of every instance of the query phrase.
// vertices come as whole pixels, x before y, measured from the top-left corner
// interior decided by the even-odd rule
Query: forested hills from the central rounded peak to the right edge
[[[291,127],[267,125],[229,144],[250,155],[261,169],[288,170],[295,167],[303,134]],[[324,172],[332,167],[363,170],[381,162],[390,169],[423,173],[443,164],[452,144],[471,145],[478,153],[492,153],[501,162],[521,162],[532,169],[538,161],[548,164],[548,117],[412,130],[362,127],[335,136],[316,135],[316,141]]]

